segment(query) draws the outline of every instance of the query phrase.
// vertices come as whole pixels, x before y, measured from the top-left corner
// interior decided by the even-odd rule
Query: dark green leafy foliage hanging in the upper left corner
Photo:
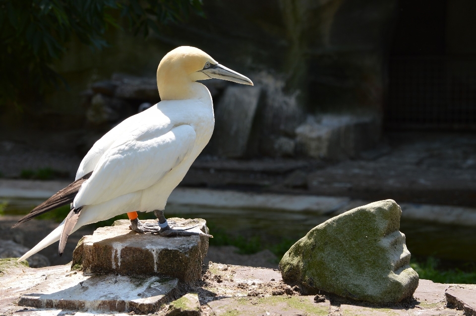
[[[61,77],[51,68],[73,37],[107,46],[109,27],[128,22],[135,34],[202,14],[201,0],[0,0],[0,105],[37,100]]]

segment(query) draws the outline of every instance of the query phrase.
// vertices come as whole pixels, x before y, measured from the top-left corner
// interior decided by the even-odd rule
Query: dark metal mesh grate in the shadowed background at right
[[[476,130],[476,58],[391,58],[384,119],[390,129]]]

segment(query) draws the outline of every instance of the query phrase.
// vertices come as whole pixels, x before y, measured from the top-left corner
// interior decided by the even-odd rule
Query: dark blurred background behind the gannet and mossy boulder
[[[0,257],[64,218],[9,229],[160,101],[157,65],[187,45],[255,84],[203,81],[214,135],[166,208],[208,221],[210,260],[276,267],[315,225],[394,199],[420,277],[476,283],[475,13],[472,0],[0,0]],[[33,265],[67,263],[105,224]]]

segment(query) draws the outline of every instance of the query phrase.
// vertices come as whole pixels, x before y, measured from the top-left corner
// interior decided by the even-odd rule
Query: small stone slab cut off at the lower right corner
[[[476,316],[476,285],[451,285],[445,292],[448,304],[465,312],[466,316]]]

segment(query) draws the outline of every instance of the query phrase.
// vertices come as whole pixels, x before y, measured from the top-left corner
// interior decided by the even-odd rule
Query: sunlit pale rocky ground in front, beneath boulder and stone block
[[[51,306],[45,309],[41,305],[35,306],[34,302],[40,294],[29,294],[31,291],[39,293],[53,287],[52,291],[55,292],[55,288],[61,286],[62,283],[71,290],[77,287],[79,290],[83,289],[80,291],[84,293],[88,293],[88,291],[92,293],[92,283],[88,281],[90,276],[83,275],[83,272],[71,271],[69,265],[32,269],[4,261],[1,263],[3,273],[1,276],[2,284],[0,285],[2,289],[0,315],[127,315],[125,312],[75,312],[68,311],[64,307],[58,309]],[[131,286],[129,285],[130,278],[126,276],[113,275],[111,280],[108,278],[111,277],[107,275],[96,277],[95,286],[102,286],[102,283],[109,284],[108,288],[119,286],[122,289],[128,289]],[[380,306],[351,301],[327,293],[301,295],[299,287],[291,287],[283,283],[279,271],[249,266],[209,263],[203,265],[202,279],[195,285],[184,287],[180,286],[179,283],[168,282],[165,290],[166,294],[154,297],[154,300],[161,300],[161,303],[157,306],[157,312],[148,314],[140,312],[140,309],[145,309],[147,306],[153,307],[153,305],[150,305],[151,303],[143,303],[142,306],[132,304],[137,307],[136,312],[128,313],[128,315],[476,315],[476,296],[474,295],[476,287],[474,285],[440,284],[420,280],[412,299],[398,304]],[[137,285],[139,291],[143,291],[143,289],[140,290],[141,286],[140,284]],[[177,290],[174,292],[175,288]],[[117,295],[123,295],[119,293],[120,291],[116,291],[116,297]],[[66,292],[60,291],[58,293],[62,293],[64,296]],[[134,293],[131,294],[133,297],[136,292],[132,291],[132,293]],[[135,299],[129,299],[133,299],[135,302],[146,302],[144,301],[146,299],[144,295],[147,296],[147,294],[146,292],[142,293],[144,294],[139,295],[139,292]],[[94,299],[94,295],[91,294],[88,300]],[[106,293],[103,292],[101,295],[104,297]],[[165,297],[164,295],[169,295],[169,300],[162,299]],[[64,299],[68,302],[74,302],[75,299],[85,298],[65,297]],[[51,294],[46,300],[54,301],[54,294]],[[48,304],[46,307],[48,307]],[[111,302],[108,304],[111,304]],[[118,305],[114,305],[113,308],[117,307]]]

